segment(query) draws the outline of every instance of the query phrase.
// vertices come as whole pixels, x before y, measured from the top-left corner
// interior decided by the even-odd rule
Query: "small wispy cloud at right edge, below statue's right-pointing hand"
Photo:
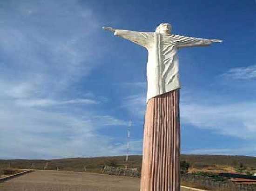
[[[222,74],[223,77],[235,80],[250,80],[256,79],[256,65],[248,67],[231,68],[226,73]]]

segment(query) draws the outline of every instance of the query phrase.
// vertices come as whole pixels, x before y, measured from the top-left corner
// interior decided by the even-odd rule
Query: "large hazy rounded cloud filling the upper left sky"
[[[54,94],[101,63],[96,62],[101,48],[93,40],[97,17],[78,1],[5,2],[0,12],[1,80],[16,82],[16,91],[20,84],[36,82],[34,88],[51,87]]]

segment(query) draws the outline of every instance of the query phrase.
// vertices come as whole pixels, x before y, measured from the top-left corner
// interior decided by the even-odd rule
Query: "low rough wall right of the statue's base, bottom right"
[[[182,181],[202,185],[209,188],[210,190],[217,189],[223,191],[256,191],[256,185],[237,184],[231,181],[214,181],[212,178],[199,175],[184,174],[182,175]]]

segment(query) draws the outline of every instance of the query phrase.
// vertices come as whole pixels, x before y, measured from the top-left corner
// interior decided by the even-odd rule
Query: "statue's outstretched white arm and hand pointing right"
[[[205,39],[205,38],[195,38],[195,37],[183,37],[180,35],[172,35],[172,41],[175,42],[177,47],[192,47],[192,46],[208,46],[213,42],[222,43],[222,40],[218,39]]]

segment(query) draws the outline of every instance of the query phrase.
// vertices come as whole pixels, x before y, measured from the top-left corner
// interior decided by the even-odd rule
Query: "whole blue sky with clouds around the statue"
[[[182,153],[256,156],[254,0],[0,1],[0,158],[142,153],[147,51],[101,26],[220,38],[182,49]]]

